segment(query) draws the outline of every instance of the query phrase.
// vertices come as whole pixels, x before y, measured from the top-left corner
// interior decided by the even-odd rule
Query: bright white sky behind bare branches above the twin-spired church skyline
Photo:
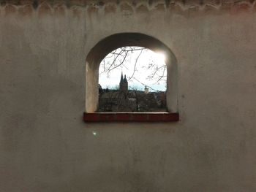
[[[162,53],[154,53],[148,49],[141,50],[142,47],[132,48],[138,50],[134,50],[132,53],[129,52],[123,64],[121,64],[123,57],[118,56],[115,64],[121,64],[121,66],[116,67],[116,69],[112,69],[109,73],[104,72],[104,64],[102,61],[99,66],[99,84],[102,85],[102,88],[115,88],[118,86],[121,72],[123,72],[123,74],[127,75],[129,88],[143,90],[145,85],[148,85],[149,91],[153,91],[151,88],[154,88],[157,91],[166,91],[166,70],[164,70],[165,67],[160,68],[161,66],[165,66],[165,55]],[[116,53],[118,53],[118,51],[120,51],[120,49],[118,49]],[[135,67],[137,58],[138,60]],[[105,69],[108,69],[110,64],[113,63],[113,60],[113,54],[109,54],[105,57]],[[148,75],[156,72],[156,69],[158,70],[155,76],[149,79]],[[133,72],[135,72],[133,75],[134,78],[129,80],[129,77],[132,77]],[[162,75],[165,77],[163,77],[162,80],[159,80],[159,76]],[[158,80],[159,82],[157,82]]]

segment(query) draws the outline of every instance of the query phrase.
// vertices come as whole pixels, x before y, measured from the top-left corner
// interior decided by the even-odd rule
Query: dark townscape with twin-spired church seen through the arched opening
[[[126,75],[121,73],[118,90],[102,89],[99,85],[99,112],[163,112],[165,92],[128,90]]]

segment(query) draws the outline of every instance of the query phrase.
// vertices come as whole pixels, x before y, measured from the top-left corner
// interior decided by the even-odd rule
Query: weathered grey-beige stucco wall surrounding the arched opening
[[[0,191],[256,190],[255,1],[0,5]],[[86,55],[122,32],[176,55],[178,123],[83,123]]]

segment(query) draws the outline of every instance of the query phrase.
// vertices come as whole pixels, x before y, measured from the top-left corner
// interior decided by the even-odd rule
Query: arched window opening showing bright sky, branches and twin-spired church
[[[166,112],[165,54],[119,47],[99,65],[98,112]]]

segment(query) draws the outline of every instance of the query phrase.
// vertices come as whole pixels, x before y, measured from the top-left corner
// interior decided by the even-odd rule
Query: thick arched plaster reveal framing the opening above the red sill
[[[178,110],[178,67],[176,57],[167,45],[158,39],[139,33],[113,34],[100,40],[86,57],[86,112],[96,112],[98,106],[99,64],[108,53],[119,47],[146,47],[164,53],[167,65],[167,111]]]

